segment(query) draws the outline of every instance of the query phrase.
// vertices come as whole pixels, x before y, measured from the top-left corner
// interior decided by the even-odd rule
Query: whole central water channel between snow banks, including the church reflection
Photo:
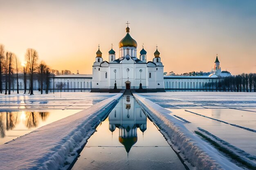
[[[122,97],[88,140],[72,170],[185,170],[132,96]]]

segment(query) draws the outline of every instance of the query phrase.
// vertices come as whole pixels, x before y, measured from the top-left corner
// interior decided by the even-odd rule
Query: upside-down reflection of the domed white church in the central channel
[[[137,128],[147,129],[147,117],[132,96],[122,97],[108,116],[109,130],[119,129],[119,142],[128,153],[137,142]]]

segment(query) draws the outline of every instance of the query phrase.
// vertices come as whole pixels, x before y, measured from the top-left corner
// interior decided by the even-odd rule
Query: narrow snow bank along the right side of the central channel
[[[133,94],[141,107],[157,124],[167,138],[168,143],[180,154],[190,169],[197,170],[240,170],[242,168],[231,163],[218,150],[189,131],[186,122],[171,115],[170,111],[158,104],[145,99],[141,95]],[[195,168],[193,168],[195,167]]]

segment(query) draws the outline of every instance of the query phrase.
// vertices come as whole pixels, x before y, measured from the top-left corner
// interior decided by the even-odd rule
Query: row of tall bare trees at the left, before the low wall
[[[49,77],[60,74],[71,74],[69,70],[63,70],[61,73],[58,70],[51,70],[43,61],[38,63],[38,52],[35,49],[27,49],[25,53],[25,63],[20,66],[17,56],[4,49],[4,45],[0,44],[0,93],[11,94],[11,87],[14,91],[13,80],[17,79],[17,93],[19,94],[18,73],[23,67],[24,94],[27,93],[27,80],[29,81],[30,95],[34,95],[33,81],[38,80],[39,91],[43,94],[48,93]],[[45,86],[43,86],[43,83]],[[5,85],[4,87],[2,85]]]

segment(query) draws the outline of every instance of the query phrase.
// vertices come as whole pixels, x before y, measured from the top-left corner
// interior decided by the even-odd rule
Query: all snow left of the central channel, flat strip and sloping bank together
[[[67,168],[77,157],[77,151],[86,143],[95,127],[115,106],[121,95],[109,93],[62,93],[62,97],[59,93],[32,96],[0,95],[2,105],[0,110],[51,110],[56,109],[56,106],[59,111],[87,108],[0,145],[0,169]]]

